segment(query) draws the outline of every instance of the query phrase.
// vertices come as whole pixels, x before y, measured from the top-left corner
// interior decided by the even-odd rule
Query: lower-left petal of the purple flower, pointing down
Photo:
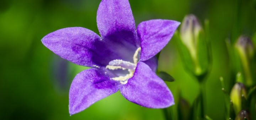
[[[81,112],[91,104],[118,91],[120,83],[110,80],[100,69],[90,68],[76,75],[69,90],[69,114]]]

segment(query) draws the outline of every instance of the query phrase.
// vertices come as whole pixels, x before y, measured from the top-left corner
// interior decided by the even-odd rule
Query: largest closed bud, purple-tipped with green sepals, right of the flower
[[[202,76],[209,67],[209,50],[203,28],[193,14],[181,24],[180,46],[185,66],[196,76]]]

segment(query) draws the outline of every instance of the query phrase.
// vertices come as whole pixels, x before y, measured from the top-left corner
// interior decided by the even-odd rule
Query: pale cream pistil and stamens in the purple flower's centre
[[[106,66],[106,69],[109,70],[128,70],[129,73],[125,74],[124,76],[118,76],[118,77],[113,77],[111,78],[112,80],[119,81],[121,84],[126,84],[127,80],[131,77],[133,77],[133,73],[135,71],[135,68],[137,66],[139,57],[140,57],[140,51],[141,48],[139,47],[134,55],[133,55],[133,63],[129,61],[124,61],[124,60],[112,60],[108,63]]]

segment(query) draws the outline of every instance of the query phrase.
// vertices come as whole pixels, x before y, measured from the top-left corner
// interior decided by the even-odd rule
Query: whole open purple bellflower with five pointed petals
[[[154,57],[170,41],[180,22],[155,19],[135,22],[128,0],[102,0],[97,11],[100,36],[81,27],[46,35],[44,46],[63,59],[92,67],[76,75],[69,91],[70,115],[118,90],[148,108],[174,104],[171,91],[156,74]]]

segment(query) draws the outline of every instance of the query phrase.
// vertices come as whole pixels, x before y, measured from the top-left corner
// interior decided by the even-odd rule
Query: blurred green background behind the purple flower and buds
[[[239,33],[252,36],[256,31],[255,2],[241,0],[241,9],[237,10],[235,0],[129,1],[136,25],[149,19],[181,22],[190,13],[195,14],[201,23],[209,19],[213,66],[206,82],[206,114],[214,120],[224,119],[224,95],[219,77],[223,76],[225,83],[233,81],[224,40],[231,36],[235,20],[240,23]],[[52,31],[74,26],[98,33],[96,12],[99,3],[100,0],[0,1],[1,120],[164,119],[161,109],[140,107],[127,101],[119,92],[69,116],[69,86],[74,76],[86,67],[60,59],[43,46],[41,39]],[[184,70],[175,39],[160,54],[159,70],[176,79],[167,83],[175,100],[181,91],[192,104],[199,93],[198,82]],[[176,107],[177,104],[172,106],[173,114],[177,114]]]

